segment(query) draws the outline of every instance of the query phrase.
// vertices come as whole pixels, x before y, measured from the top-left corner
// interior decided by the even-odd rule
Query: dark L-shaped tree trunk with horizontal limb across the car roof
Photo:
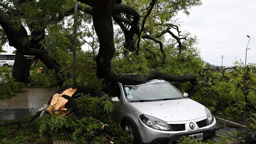
[[[149,79],[162,78],[172,82],[186,82],[189,81],[191,84],[198,84],[196,76],[194,74],[175,76],[170,74],[164,74],[158,71],[150,71],[148,75],[124,75],[117,74],[111,70],[111,60],[115,53],[114,45],[114,31],[113,23],[111,18],[112,9],[115,5],[115,0],[98,0],[94,1],[91,5],[92,9],[92,20],[93,26],[95,27],[96,34],[99,38],[100,49],[96,56],[97,63],[97,77],[104,78],[105,82],[121,82],[124,84],[142,84]],[[138,23],[135,22],[134,28],[137,28]],[[136,32],[136,29],[131,31],[131,36]],[[132,39],[125,41],[130,43]]]

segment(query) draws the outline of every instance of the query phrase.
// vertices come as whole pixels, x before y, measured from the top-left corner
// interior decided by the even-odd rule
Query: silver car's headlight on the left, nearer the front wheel
[[[153,129],[161,131],[171,131],[169,125],[159,118],[142,114],[140,115],[140,120],[148,127],[151,127]]]

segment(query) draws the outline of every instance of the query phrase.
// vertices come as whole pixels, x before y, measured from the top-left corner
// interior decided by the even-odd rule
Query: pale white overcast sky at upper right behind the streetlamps
[[[202,0],[191,14],[179,14],[181,27],[199,39],[201,57],[214,65],[233,66],[236,60],[256,63],[256,0]]]

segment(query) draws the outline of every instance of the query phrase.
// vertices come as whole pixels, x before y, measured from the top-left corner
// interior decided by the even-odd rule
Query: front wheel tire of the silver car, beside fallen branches
[[[124,131],[127,131],[129,134],[129,138],[132,140],[132,144],[139,144],[139,140],[138,140],[138,134],[134,129],[134,126],[131,122],[124,122]]]

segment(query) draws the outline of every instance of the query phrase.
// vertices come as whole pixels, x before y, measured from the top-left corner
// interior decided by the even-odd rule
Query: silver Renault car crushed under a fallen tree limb
[[[114,83],[98,94],[108,94],[115,105],[114,117],[133,144],[175,143],[180,136],[206,140],[215,135],[210,110],[162,79],[139,85]]]

